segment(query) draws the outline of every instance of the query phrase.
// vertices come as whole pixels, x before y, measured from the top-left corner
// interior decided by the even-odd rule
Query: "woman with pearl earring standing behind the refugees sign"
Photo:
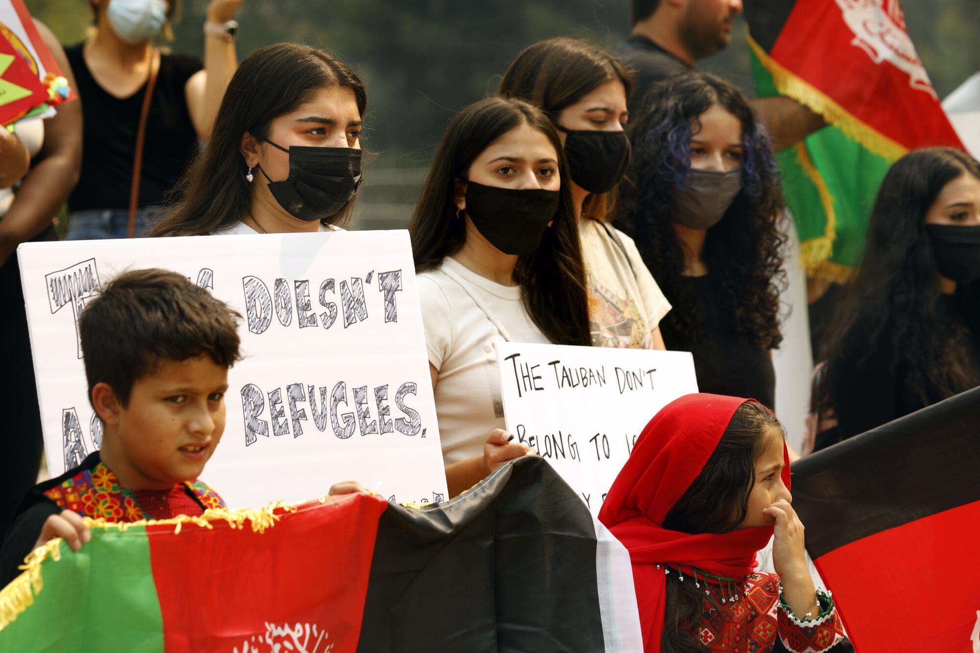
[[[256,50],[232,76],[208,147],[152,235],[338,230],[361,184],[367,103],[358,75],[323,50]]]

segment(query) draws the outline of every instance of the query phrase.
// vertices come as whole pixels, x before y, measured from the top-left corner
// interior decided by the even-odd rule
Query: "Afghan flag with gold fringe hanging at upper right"
[[[899,0],[766,0],[745,14],[760,97],[791,97],[828,125],[777,158],[808,274],[845,282],[892,163],[912,149],[963,145]]]

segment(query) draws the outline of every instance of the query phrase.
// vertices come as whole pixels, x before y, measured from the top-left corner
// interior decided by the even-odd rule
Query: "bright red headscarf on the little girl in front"
[[[664,406],[637,439],[599,512],[599,521],[629,550],[646,653],[661,650],[663,634],[666,579],[656,565],[740,581],[756,568],[756,551],[772,536],[772,527],[699,534],[662,527],[746,401],[753,400],[688,394]],[[789,487],[789,454],[783,452],[782,477]]]

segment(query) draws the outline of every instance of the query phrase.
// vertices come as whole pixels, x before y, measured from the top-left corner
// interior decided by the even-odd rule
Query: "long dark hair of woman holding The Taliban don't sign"
[[[466,224],[456,216],[455,182],[497,138],[521,125],[542,131],[558,153],[561,200],[554,225],[533,254],[517,259],[515,280],[528,315],[556,344],[590,345],[585,272],[571,201],[571,181],[562,141],[540,110],[515,99],[488,98],[460,112],[442,137],[409,231],[416,272],[438,268],[466,242]]]

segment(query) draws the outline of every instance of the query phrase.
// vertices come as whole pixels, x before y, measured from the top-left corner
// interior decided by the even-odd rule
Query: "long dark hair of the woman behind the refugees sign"
[[[294,111],[320,88],[351,88],[363,117],[368,107],[364,83],[327,52],[307,45],[276,43],[246,57],[224,92],[211,141],[172,192],[178,203],[153,229],[153,236],[208,235],[232,226],[252,205],[245,180],[241,138],[269,136],[272,121]],[[343,224],[354,200],[324,224]]]

